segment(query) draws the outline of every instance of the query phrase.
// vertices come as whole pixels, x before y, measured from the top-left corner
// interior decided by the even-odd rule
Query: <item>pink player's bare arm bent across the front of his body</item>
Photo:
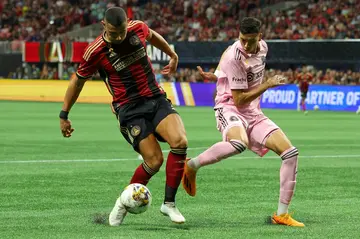
[[[275,75],[274,77],[269,78],[267,81],[262,83],[261,85],[255,87],[250,91],[245,90],[231,90],[232,96],[235,102],[235,105],[242,106],[249,104],[251,101],[258,98],[262,95],[267,89],[284,85],[286,82],[286,78],[280,75]]]

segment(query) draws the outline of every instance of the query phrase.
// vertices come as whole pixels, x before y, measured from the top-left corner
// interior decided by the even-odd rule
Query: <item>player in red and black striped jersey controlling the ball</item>
[[[121,133],[144,159],[130,183],[146,185],[159,171],[163,154],[158,141],[167,142],[171,151],[166,164],[165,199],[160,211],[173,222],[184,223],[185,218],[175,206],[175,195],[184,170],[187,138],[180,116],[155,80],[145,41],[170,56],[163,74],[176,71],[178,56],[164,38],[145,23],[129,21],[122,8],[107,9],[102,23],[104,32],[86,48],[76,77],[69,83],[60,112],[62,134],[64,137],[72,135],[74,129],[68,120],[69,111],[86,80],[99,71],[113,96],[112,105]],[[125,207],[118,198],[109,216],[110,225],[120,225],[125,215]]]

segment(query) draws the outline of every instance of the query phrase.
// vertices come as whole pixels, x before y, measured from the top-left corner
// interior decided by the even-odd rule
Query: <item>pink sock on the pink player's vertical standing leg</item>
[[[280,155],[283,160],[280,168],[280,202],[286,205],[290,204],[295,190],[298,155],[295,147]]]

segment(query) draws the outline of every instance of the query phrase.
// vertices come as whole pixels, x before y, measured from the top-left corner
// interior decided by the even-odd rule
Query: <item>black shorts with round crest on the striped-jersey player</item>
[[[114,106],[117,118],[120,122],[120,131],[126,141],[131,144],[135,151],[139,152],[141,140],[154,134],[157,140],[165,140],[155,132],[156,127],[166,116],[177,111],[166,96],[144,98],[136,103],[124,106]]]

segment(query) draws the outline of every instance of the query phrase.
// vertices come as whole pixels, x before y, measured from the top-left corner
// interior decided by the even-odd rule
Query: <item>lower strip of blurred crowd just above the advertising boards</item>
[[[62,79],[69,80],[75,74],[77,64],[64,64],[62,76],[58,72],[56,64],[43,64],[41,67],[35,64],[26,64],[18,67],[16,72],[11,72],[10,79]],[[204,69],[205,70],[205,69]],[[208,71],[214,72],[215,68],[208,68]],[[303,66],[296,69],[265,71],[265,79],[281,74],[287,77],[289,84],[297,84],[299,81],[306,80],[312,84],[330,84],[330,85],[360,85],[360,72],[351,70],[340,71],[334,69],[319,70],[313,66]],[[190,68],[179,68],[177,73],[172,76],[161,74],[161,69],[155,70],[156,80],[161,82],[203,82],[211,83],[208,79],[202,79],[198,71]],[[99,75],[93,77],[94,80],[100,80]]]

